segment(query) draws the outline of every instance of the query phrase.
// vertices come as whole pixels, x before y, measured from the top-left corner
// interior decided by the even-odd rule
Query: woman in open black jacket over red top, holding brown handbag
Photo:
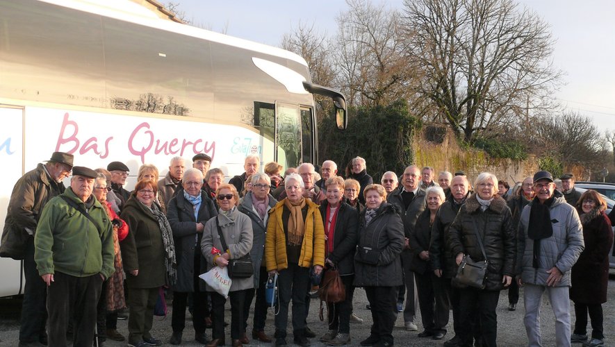
[[[329,331],[320,338],[329,346],[350,343],[350,315],[354,287],[354,251],[359,214],[342,201],[344,180],[334,176],[325,181],[327,200],[320,205],[322,224],[325,226],[325,267],[336,268],[346,289],[346,299],[341,303],[327,303]],[[325,269],[325,271],[327,271]]]

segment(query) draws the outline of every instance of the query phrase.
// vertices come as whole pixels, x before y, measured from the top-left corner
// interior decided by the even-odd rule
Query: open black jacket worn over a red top
[[[325,200],[320,205],[320,215],[322,216],[322,225],[325,226],[325,235],[327,233],[327,206],[329,203]],[[328,247],[325,241],[325,257],[328,257],[331,262],[336,264],[340,275],[352,275],[354,273],[354,253],[356,251],[356,234],[359,228],[359,214],[356,209],[345,202],[338,205],[338,216],[335,222],[335,232],[333,239],[333,252]]]

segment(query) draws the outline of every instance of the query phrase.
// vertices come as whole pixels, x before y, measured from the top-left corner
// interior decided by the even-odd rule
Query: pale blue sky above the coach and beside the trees
[[[186,17],[212,31],[278,46],[300,23],[320,33],[336,33],[336,17],[347,10],[341,0],[174,0]],[[402,0],[373,0],[402,8]],[[556,96],[562,104],[615,129],[615,1],[521,0],[551,25],[557,40],[554,62],[564,70]]]

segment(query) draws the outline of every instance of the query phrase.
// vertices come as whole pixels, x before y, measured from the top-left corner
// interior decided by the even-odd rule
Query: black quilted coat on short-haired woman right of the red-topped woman
[[[403,284],[400,253],[404,248],[404,224],[393,205],[382,203],[368,225],[365,223],[365,212],[361,213],[356,246],[355,287],[395,287]],[[376,265],[361,262],[359,250],[363,247],[379,251]]]

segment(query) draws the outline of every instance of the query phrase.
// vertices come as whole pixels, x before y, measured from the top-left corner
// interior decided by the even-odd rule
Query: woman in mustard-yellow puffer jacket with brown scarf
[[[306,295],[310,269],[320,276],[325,266],[325,230],[318,205],[304,198],[298,174],[284,178],[286,198],[272,208],[265,239],[265,262],[270,274],[279,273],[279,313],[275,316],[275,346],[286,345],[288,303],[293,299],[295,344],[309,346],[306,337]]]

